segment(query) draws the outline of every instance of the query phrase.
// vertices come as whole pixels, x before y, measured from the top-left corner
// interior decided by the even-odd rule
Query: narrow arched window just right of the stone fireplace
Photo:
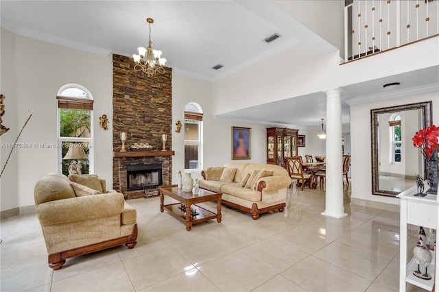
[[[185,169],[202,169],[203,112],[199,104],[190,102],[185,106]]]

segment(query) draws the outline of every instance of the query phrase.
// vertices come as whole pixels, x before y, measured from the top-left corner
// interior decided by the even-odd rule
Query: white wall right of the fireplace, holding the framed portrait
[[[216,121],[213,116],[212,84],[187,77],[176,71],[172,73],[172,149],[176,155],[172,158],[172,178],[176,182],[178,171],[185,169],[185,134],[177,133],[176,123],[185,120],[185,106],[196,102],[202,107],[203,115],[203,168],[217,167],[232,160],[231,127],[250,127],[252,129],[251,159],[236,160],[241,162],[265,163],[267,140],[265,126]],[[201,178],[200,173],[193,178]]]

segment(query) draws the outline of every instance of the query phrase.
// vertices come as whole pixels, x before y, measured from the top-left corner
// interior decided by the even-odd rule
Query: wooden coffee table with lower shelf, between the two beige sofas
[[[158,188],[160,193],[160,212],[167,210],[169,214],[173,215],[177,219],[185,222],[186,230],[191,230],[193,224],[201,223],[211,219],[217,219],[217,222],[221,222],[221,197],[222,193],[217,193],[206,188],[201,188],[198,194],[192,192],[185,192],[182,188],[175,186],[160,186]],[[176,199],[179,203],[164,205],[165,195]],[[217,202],[216,214],[210,210],[202,208],[198,203],[204,202]],[[195,210],[195,214],[191,214],[192,210]]]

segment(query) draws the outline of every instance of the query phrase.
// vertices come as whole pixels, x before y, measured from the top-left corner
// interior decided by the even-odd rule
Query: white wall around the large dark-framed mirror
[[[433,101],[433,123],[439,121],[439,93],[423,93],[395,99],[386,99],[367,104],[351,105],[351,174],[352,174],[352,197],[370,201],[399,204],[399,199],[372,195],[372,162],[370,157],[370,110],[413,104],[420,101]]]

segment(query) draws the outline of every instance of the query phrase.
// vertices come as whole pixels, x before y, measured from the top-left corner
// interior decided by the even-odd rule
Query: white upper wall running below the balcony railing
[[[215,114],[224,114],[438,66],[438,42],[437,37],[429,38],[342,66],[338,52],[321,56],[299,44],[215,82],[213,110]]]

